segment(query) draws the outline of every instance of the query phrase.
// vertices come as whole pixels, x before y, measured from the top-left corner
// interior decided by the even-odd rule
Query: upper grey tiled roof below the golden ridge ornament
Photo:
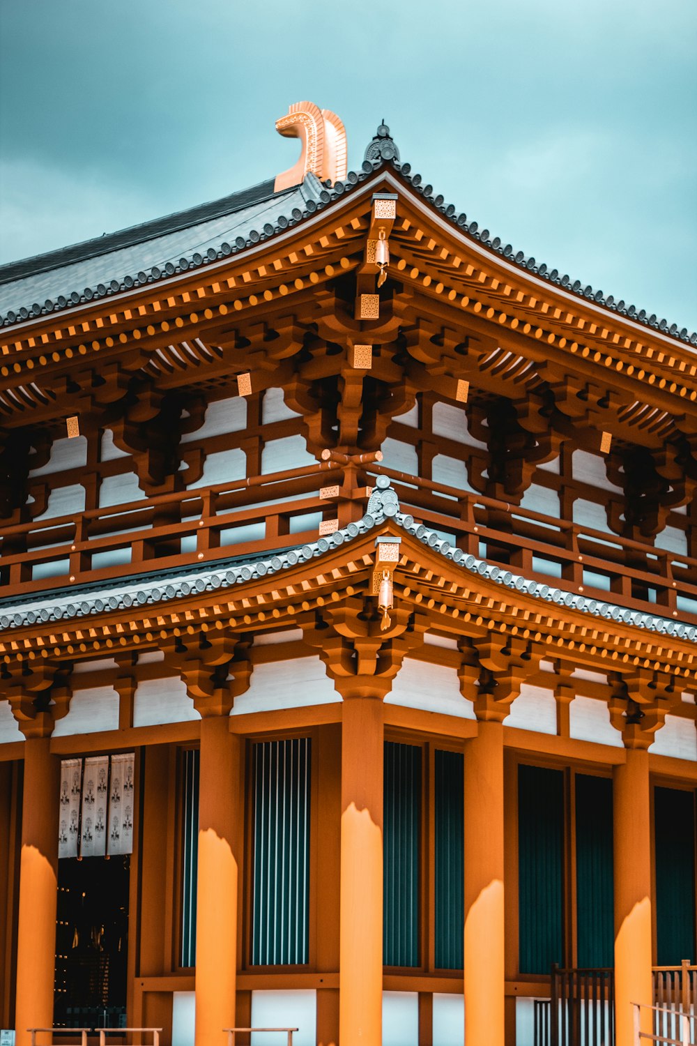
[[[386,130],[389,132],[389,129]],[[376,140],[377,138],[373,139],[374,142]],[[33,316],[71,308],[93,297],[116,294],[142,282],[166,279],[175,273],[242,251],[333,203],[385,167],[397,173],[415,192],[423,196],[436,210],[456,225],[464,236],[477,241],[519,269],[554,283],[579,298],[585,298],[610,312],[626,316],[633,322],[652,327],[690,345],[697,345],[697,333],[691,334],[687,327],[678,329],[677,323],[669,324],[668,320],[658,319],[655,314],[649,315],[645,309],[636,309],[635,305],[627,304],[623,300],[615,301],[612,295],[605,296],[602,291],[595,290],[589,283],[584,286],[580,279],[561,275],[558,269],[551,269],[544,263],[526,256],[524,251],[515,251],[510,244],[503,244],[501,237],[491,236],[488,229],[480,229],[479,224],[468,221],[464,212],[458,213],[454,204],[446,205],[442,196],[434,196],[433,185],[424,184],[421,175],[412,174],[411,164],[399,162],[399,152],[389,133],[379,138],[378,146],[373,149],[372,153],[369,146],[366,155],[373,158],[364,160],[361,172],[349,172],[345,182],[338,182],[333,188],[323,187],[313,175],[307,175],[300,186],[278,195],[273,195],[272,191],[271,196],[257,199],[256,192],[266,192],[270,187],[273,188],[272,182],[263,182],[251,189],[212,204],[204,204],[200,208],[194,207],[181,214],[148,222],[123,232],[112,233],[109,237],[66,248],[64,251],[2,266],[0,267],[2,323],[8,325],[23,322]],[[242,198],[245,202],[234,203]],[[256,202],[250,203],[250,200]],[[240,209],[232,209],[235,206],[239,206]],[[209,210],[216,217],[213,219],[201,217],[208,214]],[[276,214],[275,221],[274,214]],[[186,225],[180,231],[177,221],[186,219],[186,215],[191,217],[193,224]],[[231,222],[231,218],[234,218],[234,221]],[[171,231],[169,223],[172,223],[171,228],[178,231]],[[158,232],[160,226],[169,231],[160,234]],[[141,230],[140,238],[138,238],[139,230]],[[135,238],[130,240],[130,235]],[[118,244],[121,237],[129,246],[122,248],[107,246],[108,243]],[[104,247],[99,251],[99,244],[102,242]],[[70,264],[71,252],[80,250],[87,252],[85,259]],[[99,252],[94,253],[95,251]],[[178,258],[178,254],[182,256]],[[62,256],[65,256],[65,263],[61,262]],[[84,255],[79,254],[79,257],[83,258]],[[14,276],[11,275],[14,272],[24,275]]]

